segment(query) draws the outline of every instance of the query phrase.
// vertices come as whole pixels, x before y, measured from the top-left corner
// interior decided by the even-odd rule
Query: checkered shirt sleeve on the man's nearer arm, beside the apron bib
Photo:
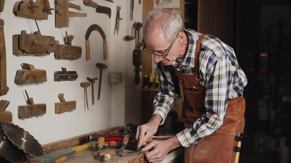
[[[184,147],[197,144],[206,136],[216,133],[224,120],[230,85],[230,59],[227,55],[217,58],[206,77],[206,113],[187,129],[177,134]]]

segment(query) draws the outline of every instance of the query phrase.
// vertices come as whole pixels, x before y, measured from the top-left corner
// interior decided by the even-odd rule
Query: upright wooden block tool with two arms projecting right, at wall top
[[[55,27],[69,27],[69,17],[87,17],[87,13],[72,12],[69,7],[76,5],[69,4],[69,0],[55,0]]]

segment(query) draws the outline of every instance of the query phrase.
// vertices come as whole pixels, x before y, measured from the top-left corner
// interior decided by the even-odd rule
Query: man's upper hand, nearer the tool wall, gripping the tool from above
[[[138,126],[136,134],[136,139],[139,142],[138,147],[141,147],[150,136],[153,136],[157,132],[161,121],[162,117],[159,114],[154,114],[149,122]]]

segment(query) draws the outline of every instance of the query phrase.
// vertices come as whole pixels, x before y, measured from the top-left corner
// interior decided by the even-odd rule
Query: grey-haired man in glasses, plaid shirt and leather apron
[[[146,159],[160,163],[182,145],[185,163],[233,162],[234,137],[243,132],[247,85],[233,49],[213,35],[182,29],[181,17],[166,9],[150,11],[144,25],[144,51],[158,63],[160,92],[151,119],[138,127],[138,146],[156,133],[181,93],[186,104],[185,129],[168,140],[147,144],[142,150],[153,150]]]

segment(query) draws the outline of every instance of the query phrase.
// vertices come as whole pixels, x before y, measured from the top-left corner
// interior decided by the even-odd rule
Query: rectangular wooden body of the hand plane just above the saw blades
[[[43,116],[46,113],[46,104],[23,105],[18,106],[18,117],[31,118],[34,116]]]

